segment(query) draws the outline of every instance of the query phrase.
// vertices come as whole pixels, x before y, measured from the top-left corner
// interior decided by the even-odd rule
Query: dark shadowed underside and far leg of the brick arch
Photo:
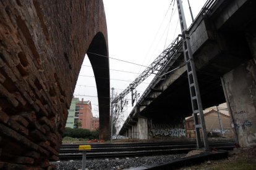
[[[97,33],[93,38],[88,51],[95,75],[99,114],[100,114],[100,139],[109,139],[109,60],[106,41],[102,33]]]

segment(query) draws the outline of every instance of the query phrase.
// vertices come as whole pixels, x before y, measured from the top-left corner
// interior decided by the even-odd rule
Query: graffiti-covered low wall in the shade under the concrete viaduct
[[[185,129],[173,128],[168,124],[152,124],[150,132],[153,137],[156,137],[156,136],[185,137],[186,136]]]

